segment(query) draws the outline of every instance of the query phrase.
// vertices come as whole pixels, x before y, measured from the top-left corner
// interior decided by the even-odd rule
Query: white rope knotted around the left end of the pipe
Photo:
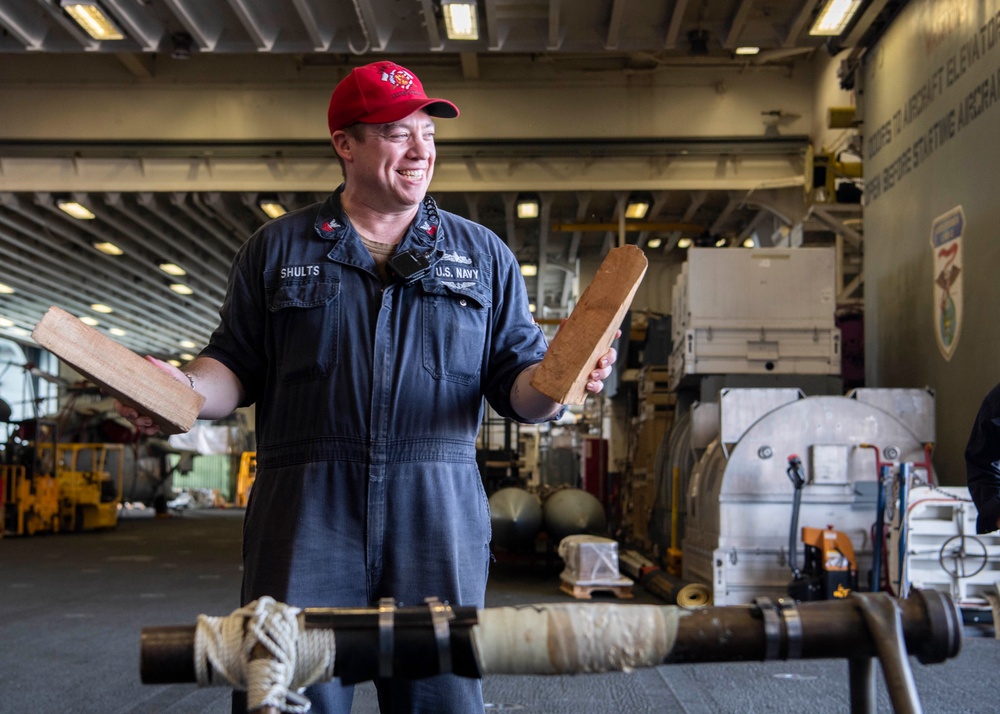
[[[226,617],[199,615],[194,641],[199,686],[245,689],[250,710],[309,711],[302,691],[333,678],[336,648],[333,630],[305,630],[300,612],[262,597]]]

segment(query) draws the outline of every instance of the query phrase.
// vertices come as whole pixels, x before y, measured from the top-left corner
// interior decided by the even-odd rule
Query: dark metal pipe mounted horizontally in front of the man
[[[856,601],[858,597],[886,598],[899,607],[907,651],[920,662],[943,662],[958,654],[962,617],[954,602],[936,590],[915,590],[910,598],[900,601],[885,594],[863,593],[843,600],[798,605],[779,601],[774,610],[761,604],[686,611],[680,617],[676,642],[664,663],[875,657],[877,633],[869,630]],[[479,677],[471,642],[476,610],[453,608],[453,612],[454,619],[449,623],[452,671],[465,677]],[[335,631],[335,675],[349,682],[378,675],[377,608],[307,609],[304,619],[307,629],[332,627]],[[196,681],[194,636],[194,626],[143,629],[142,681],[146,684]],[[394,677],[414,679],[440,672],[438,640],[427,608],[397,609],[393,637]]]

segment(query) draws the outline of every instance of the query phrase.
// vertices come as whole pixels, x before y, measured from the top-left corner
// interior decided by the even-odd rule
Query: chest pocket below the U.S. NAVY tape
[[[424,283],[424,369],[435,379],[471,384],[479,378],[490,299],[478,284],[456,288]]]

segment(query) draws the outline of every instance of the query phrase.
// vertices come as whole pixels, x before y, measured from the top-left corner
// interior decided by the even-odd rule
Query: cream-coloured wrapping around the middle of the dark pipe
[[[530,605],[479,611],[472,644],[483,674],[628,672],[662,664],[679,609],[655,605]]]

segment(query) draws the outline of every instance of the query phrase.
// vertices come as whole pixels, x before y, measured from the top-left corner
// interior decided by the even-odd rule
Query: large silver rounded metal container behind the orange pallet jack
[[[885,460],[912,462],[930,483],[926,454],[933,442],[928,390],[812,397],[796,389],[723,390],[717,436],[695,463],[684,496],[683,579],[711,585],[715,605],[787,595],[795,498],[785,473],[789,454],[802,458],[799,520],[818,529],[810,533],[819,545],[810,545],[819,557],[829,553],[823,544],[832,527],[850,543],[857,571],[868,573],[878,490],[870,445],[878,444]]]

